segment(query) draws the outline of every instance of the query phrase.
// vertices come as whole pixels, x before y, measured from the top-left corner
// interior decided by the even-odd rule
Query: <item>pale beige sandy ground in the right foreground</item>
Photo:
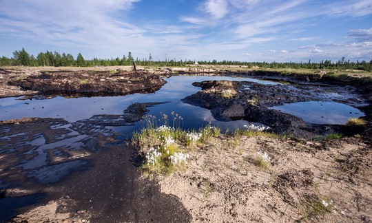
[[[258,152],[271,158],[258,167]],[[192,222],[370,222],[371,145],[223,136],[197,147],[186,171],[159,177]],[[322,200],[329,206],[325,208]]]

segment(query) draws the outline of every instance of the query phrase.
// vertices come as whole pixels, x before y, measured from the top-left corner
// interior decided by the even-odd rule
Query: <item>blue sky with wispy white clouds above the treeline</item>
[[[372,1],[0,0],[0,56],[372,59]]]

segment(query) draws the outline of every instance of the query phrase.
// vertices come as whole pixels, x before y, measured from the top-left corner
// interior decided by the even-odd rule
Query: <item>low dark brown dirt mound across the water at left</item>
[[[160,89],[165,83],[155,74],[121,70],[50,71],[8,81],[8,85],[25,90],[70,97],[149,93]]]

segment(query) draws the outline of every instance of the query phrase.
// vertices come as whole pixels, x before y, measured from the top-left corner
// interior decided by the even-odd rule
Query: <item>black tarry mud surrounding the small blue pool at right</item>
[[[318,138],[327,134],[340,133],[344,136],[372,134],[372,85],[361,87],[330,85],[322,82],[307,84],[296,82],[295,85],[262,85],[248,81],[203,81],[193,83],[201,87],[196,94],[183,99],[184,103],[211,110],[216,120],[247,120],[261,123],[271,128],[276,134],[287,134],[300,138]],[[356,106],[365,112],[364,119],[369,124],[360,126],[316,125],[306,123],[302,118],[269,109],[285,103],[327,101],[331,94],[344,95],[333,99],[338,103]],[[345,123],[346,124],[346,123]]]

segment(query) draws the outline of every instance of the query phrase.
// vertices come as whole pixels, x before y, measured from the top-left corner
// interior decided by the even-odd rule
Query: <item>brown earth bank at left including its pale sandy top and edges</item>
[[[46,94],[48,96],[115,96],[153,93],[166,81],[143,70],[12,70],[1,69],[1,97]]]

